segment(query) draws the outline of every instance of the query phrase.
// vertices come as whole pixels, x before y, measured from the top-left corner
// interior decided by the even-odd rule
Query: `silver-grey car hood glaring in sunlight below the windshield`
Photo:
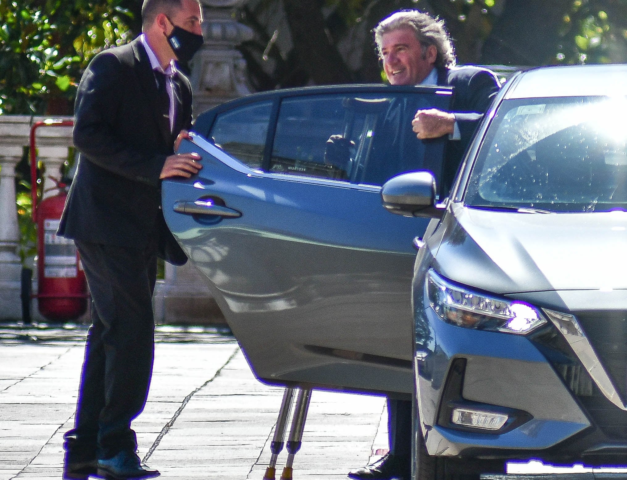
[[[530,214],[454,206],[435,268],[493,293],[627,289],[627,212]]]

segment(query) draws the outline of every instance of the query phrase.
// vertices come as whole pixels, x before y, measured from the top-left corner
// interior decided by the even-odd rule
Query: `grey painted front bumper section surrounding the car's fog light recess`
[[[416,392],[421,427],[431,455],[526,457],[591,426],[546,358],[526,337],[470,330],[441,321],[431,308],[416,329]],[[529,414],[504,432],[441,425],[450,367],[465,359],[461,398]],[[440,420],[440,421],[438,421]],[[531,455],[532,456],[532,455]]]

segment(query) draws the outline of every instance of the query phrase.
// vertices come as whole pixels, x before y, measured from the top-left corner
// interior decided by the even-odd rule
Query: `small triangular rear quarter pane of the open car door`
[[[272,102],[261,102],[219,113],[208,137],[231,157],[258,169],[263,162],[271,110]]]

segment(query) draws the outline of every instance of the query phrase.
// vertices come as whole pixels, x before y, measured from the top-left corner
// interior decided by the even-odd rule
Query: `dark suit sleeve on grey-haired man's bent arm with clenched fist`
[[[468,82],[468,95],[464,102],[464,112],[455,113],[455,120],[460,128],[461,143],[468,145],[483,113],[488,110],[500,85],[497,77],[488,70],[478,70]]]

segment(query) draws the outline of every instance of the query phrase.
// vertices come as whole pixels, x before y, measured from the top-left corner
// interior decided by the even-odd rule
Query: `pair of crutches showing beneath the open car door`
[[[290,436],[287,440],[287,461],[280,480],[292,480],[292,466],[294,464],[294,456],[300,450],[303,439],[303,431],[305,430],[305,420],[307,420],[307,410],[309,410],[309,401],[311,400],[312,391],[309,389],[285,389],[283,392],[283,400],[281,408],[278,411],[277,426],[275,427],[274,436],[270,443],[270,463],[266,468],[263,480],[275,480],[277,472],[278,456],[283,450],[285,444],[285,432],[287,430],[287,420],[290,416],[294,395],[297,394],[294,404],[294,412],[292,414],[292,425],[290,427]]]

